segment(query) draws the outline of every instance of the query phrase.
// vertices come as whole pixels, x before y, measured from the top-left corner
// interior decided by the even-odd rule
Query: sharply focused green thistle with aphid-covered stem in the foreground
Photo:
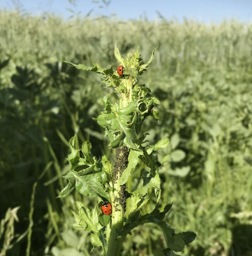
[[[129,52],[124,59],[115,47],[116,59],[123,66],[123,76],[112,67],[102,69],[96,63],[93,67],[70,63],[78,69],[102,74],[102,84],[115,90],[113,95],[104,97],[104,111],[96,120],[110,140],[108,146],[116,148],[116,162],[113,165],[105,155],[96,159],[88,141],[81,149],[76,148],[78,143],[73,137],[68,156],[71,169],[64,176],[69,183],[60,193],[60,197],[65,197],[76,189],[82,195],[98,199],[94,209],[77,202],[75,226],[90,231],[93,246],[101,246],[107,256],[118,256],[127,234],[140,224],[156,223],[162,229],[166,243],[164,254],[169,256],[175,255],[174,251],[182,251],[185,244],[196,237],[193,232],[175,233],[163,220],[171,204],[161,204],[158,169],[168,156],[159,161],[155,152],[168,145],[168,138],[148,145],[145,140],[148,133],[141,129],[147,116],[159,119],[156,108],[159,100],[148,87],[139,84],[139,75],[151,64],[155,51],[144,63],[139,49]],[[111,203],[111,215],[102,213],[104,201]]]

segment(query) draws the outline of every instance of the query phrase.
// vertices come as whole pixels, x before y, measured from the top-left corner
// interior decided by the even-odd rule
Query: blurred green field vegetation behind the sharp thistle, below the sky
[[[113,159],[92,119],[110,89],[63,61],[116,69],[115,44],[122,54],[140,45],[145,60],[159,45],[142,83],[160,99],[161,119],[156,126],[147,118],[145,129],[153,143],[170,138],[160,155],[170,154],[160,171],[162,200],[174,202],[167,220],[177,232],[197,233],[183,255],[251,256],[252,25],[6,11],[0,11],[0,255],[90,254],[89,236],[72,228],[71,211],[75,201],[90,208],[96,202],[77,193],[56,197],[75,133],[79,143],[91,141],[97,157]],[[122,255],[158,256],[162,243],[148,224],[127,237]]]

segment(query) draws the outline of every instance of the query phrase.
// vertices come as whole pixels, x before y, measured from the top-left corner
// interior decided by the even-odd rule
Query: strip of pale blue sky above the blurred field
[[[252,0],[111,0],[108,6],[102,0],[0,0],[0,9],[13,9],[14,6],[35,15],[54,12],[66,18],[72,15],[69,9],[83,16],[93,9],[92,16],[116,14],[124,20],[139,17],[153,20],[158,17],[158,11],[168,20],[182,21],[186,17],[206,23],[231,18],[252,21]]]

